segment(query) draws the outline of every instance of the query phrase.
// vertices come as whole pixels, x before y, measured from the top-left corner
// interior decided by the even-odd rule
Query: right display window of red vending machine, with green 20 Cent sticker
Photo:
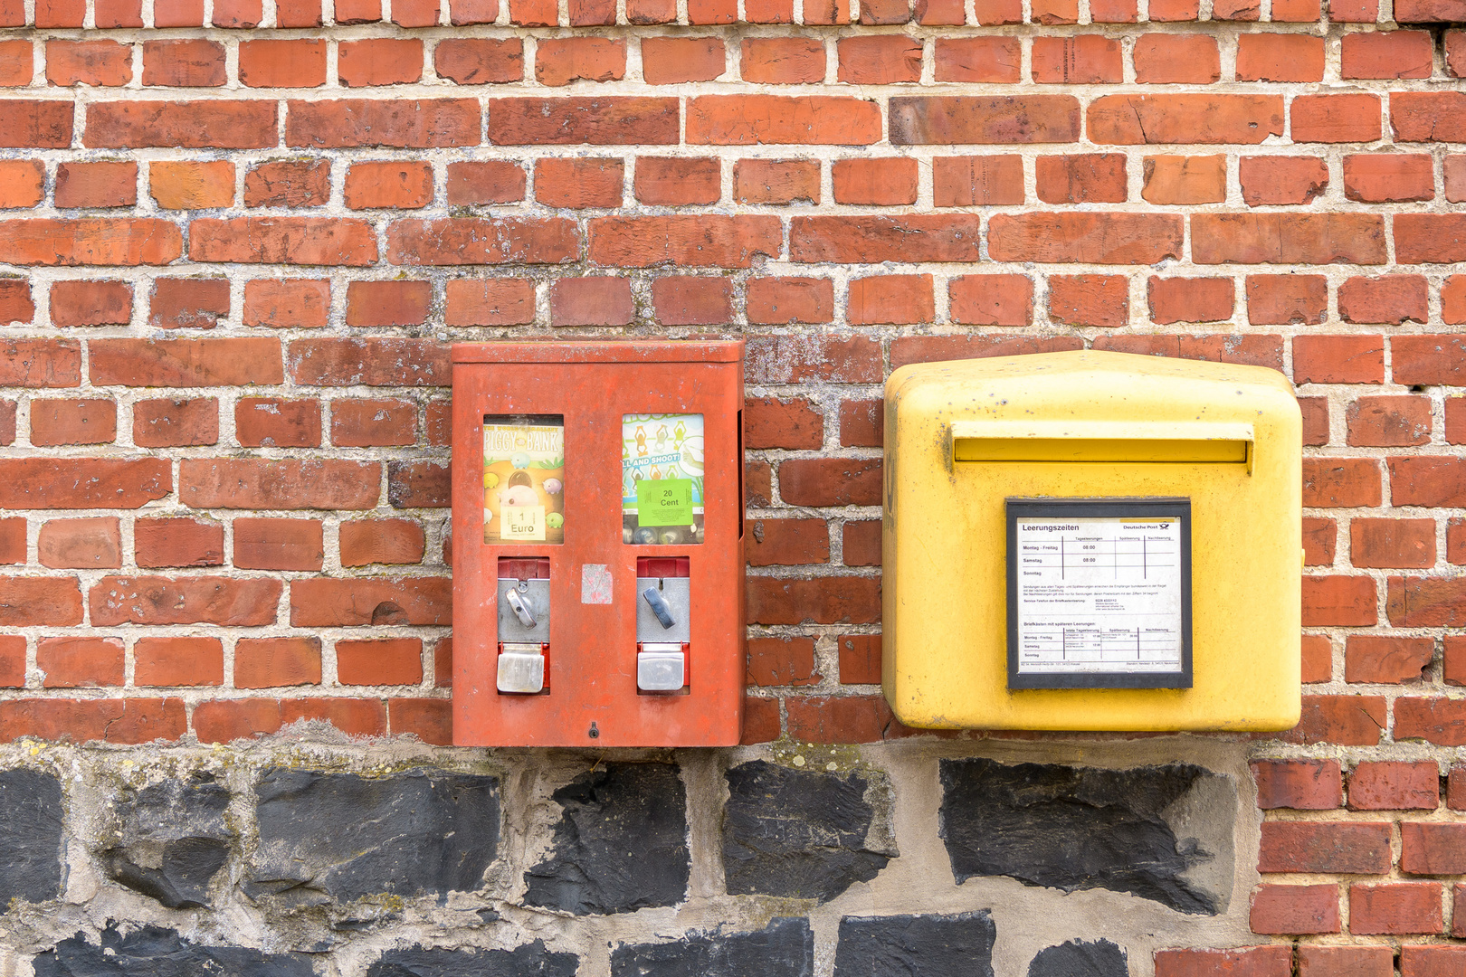
[[[622,417],[622,538],[702,542],[702,415]]]

